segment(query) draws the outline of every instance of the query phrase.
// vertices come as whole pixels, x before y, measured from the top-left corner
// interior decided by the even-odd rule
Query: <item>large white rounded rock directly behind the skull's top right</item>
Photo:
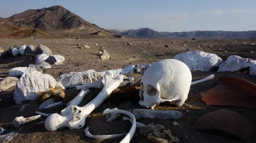
[[[197,69],[209,72],[222,63],[222,59],[216,54],[202,51],[184,52],[174,56],[173,59],[184,62],[190,70]]]

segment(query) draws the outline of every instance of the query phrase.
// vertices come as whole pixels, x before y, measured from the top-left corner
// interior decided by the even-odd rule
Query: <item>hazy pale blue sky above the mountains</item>
[[[256,30],[256,0],[0,0],[0,17],[61,5],[105,29]]]

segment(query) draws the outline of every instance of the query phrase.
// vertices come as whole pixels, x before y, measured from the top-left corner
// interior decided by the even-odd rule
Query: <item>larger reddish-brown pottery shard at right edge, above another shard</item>
[[[219,84],[201,98],[207,105],[256,108],[256,85],[235,76],[222,76]]]

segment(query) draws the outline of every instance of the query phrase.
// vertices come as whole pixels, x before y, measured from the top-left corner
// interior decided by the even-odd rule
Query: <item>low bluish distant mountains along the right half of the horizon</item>
[[[218,38],[218,39],[256,39],[256,31],[190,31],[190,32],[158,32],[150,28],[137,30],[109,29],[120,35],[136,38]]]

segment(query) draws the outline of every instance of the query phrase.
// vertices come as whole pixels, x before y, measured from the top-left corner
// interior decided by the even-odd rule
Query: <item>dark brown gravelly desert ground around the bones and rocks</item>
[[[127,43],[133,45],[128,45]],[[174,43],[175,42],[175,43]],[[95,45],[95,44],[98,45]],[[12,46],[38,45],[45,44],[53,54],[60,54],[65,57],[64,64],[57,65],[51,69],[44,69],[44,73],[50,74],[54,78],[60,74],[69,72],[80,72],[87,69],[95,69],[95,71],[104,71],[109,69],[118,69],[127,66],[128,64],[148,64],[154,63],[161,59],[173,58],[176,54],[188,51],[201,50],[217,54],[225,61],[230,55],[238,55],[243,58],[256,59],[256,47],[252,46],[256,40],[191,40],[188,39],[105,39],[105,38],[82,38],[82,39],[0,39],[0,47],[8,49]],[[90,46],[90,49],[79,49],[77,44],[85,44]],[[165,46],[165,45],[168,45]],[[209,47],[211,46],[211,47]],[[109,60],[100,60],[97,52],[100,47],[104,47],[109,54]],[[0,61],[0,77],[8,76],[8,71],[13,67],[26,67],[34,63],[33,57],[30,56],[7,56]],[[192,71],[192,81],[204,78],[210,74],[215,74],[215,79],[205,81],[199,84],[192,85],[189,91],[188,99],[182,107],[177,107],[171,104],[162,103],[156,106],[155,110],[177,110],[181,111],[182,118],[175,120],[164,119],[140,119],[138,122],[149,124],[160,124],[170,129],[173,136],[179,138],[180,143],[256,143],[256,130],[247,139],[242,140],[229,134],[218,131],[205,132],[197,131],[194,128],[195,121],[205,113],[216,111],[218,109],[229,109],[241,114],[251,121],[256,127],[256,111],[253,108],[244,108],[237,106],[207,106],[200,99],[207,91],[218,84],[220,76],[237,76],[246,79],[253,84],[256,84],[256,76],[251,76],[248,71],[240,72],[201,72],[198,70]],[[140,75],[133,75],[140,76]],[[102,112],[106,108],[118,108],[126,111],[131,111],[135,108],[143,108],[138,104],[138,94],[129,97],[115,97],[112,100],[106,100],[98,108],[96,108],[90,116],[86,118],[85,126],[79,130],[69,130],[67,128],[60,131],[48,132],[44,124],[37,124],[44,121],[46,117],[28,123],[21,127],[12,126],[12,121],[17,116],[35,116],[35,111],[40,105],[37,101],[26,102],[16,105],[13,100],[13,92],[15,86],[6,91],[0,92],[0,126],[5,128],[5,133],[12,131],[19,134],[10,141],[10,143],[118,143],[122,138],[117,139],[92,139],[84,134],[84,129],[89,127],[90,133],[94,135],[107,135],[127,133],[131,127],[129,121],[122,121],[117,118],[112,122],[105,122],[105,115]],[[92,100],[100,90],[91,89],[91,92],[83,99],[79,106],[84,106]],[[75,88],[65,90],[65,103],[71,101],[79,90]],[[19,111],[21,105],[26,104],[23,111]],[[65,108],[64,106],[55,108],[50,111],[40,110],[44,113],[60,113]],[[173,121],[177,121],[179,126],[174,126]],[[237,125],[243,126],[243,125]],[[143,136],[139,135],[138,128],[133,136],[131,143],[148,143]]]

